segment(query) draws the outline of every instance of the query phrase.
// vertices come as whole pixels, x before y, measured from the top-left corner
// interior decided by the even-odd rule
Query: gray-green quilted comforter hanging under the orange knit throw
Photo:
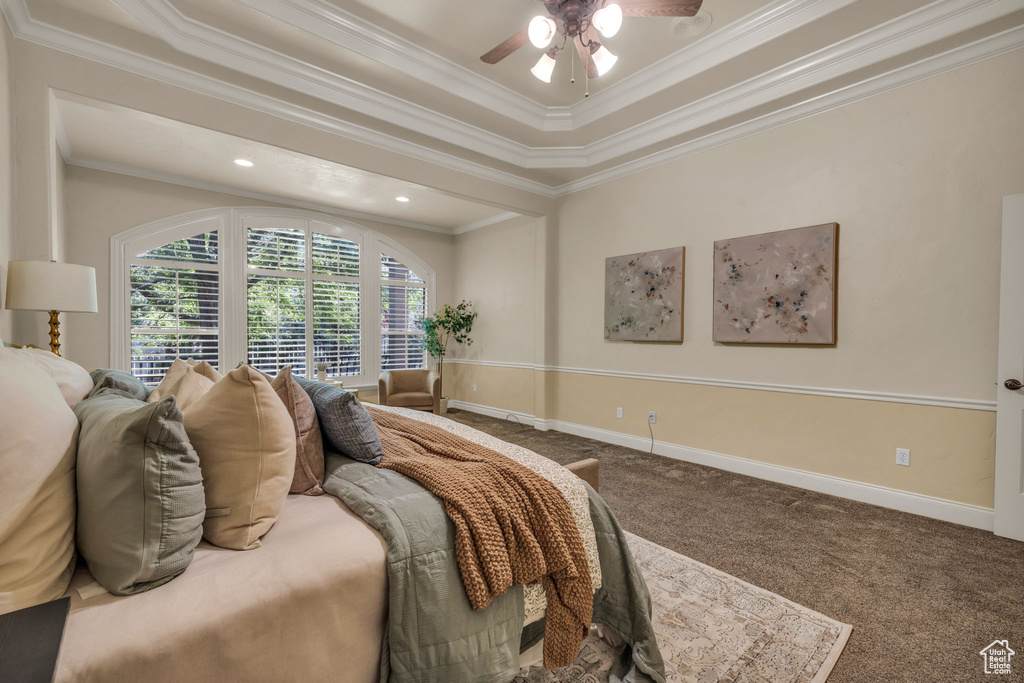
[[[522,587],[473,611],[455,555],[455,527],[440,499],[416,481],[329,454],[324,489],[341,499],[387,541],[389,617],[381,655],[384,683],[508,683],[519,652],[544,636],[523,630]],[[664,683],[650,622],[650,597],[607,504],[588,486],[603,587],[594,622],[630,645],[612,681]]]

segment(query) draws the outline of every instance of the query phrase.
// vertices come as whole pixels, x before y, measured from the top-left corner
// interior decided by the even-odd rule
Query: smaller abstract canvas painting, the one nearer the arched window
[[[612,256],[604,262],[604,338],[683,341],[686,249]]]

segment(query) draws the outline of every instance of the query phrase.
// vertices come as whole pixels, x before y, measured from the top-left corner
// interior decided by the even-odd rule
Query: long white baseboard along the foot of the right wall
[[[535,416],[525,413],[504,411],[497,408],[479,405],[477,403],[470,403],[462,400],[452,400],[449,404],[452,408],[469,411],[471,413],[479,413],[481,415],[487,415],[499,419],[505,419],[509,415],[515,415],[519,422],[532,425],[537,429],[545,431],[553,429],[555,431],[574,434],[577,436],[584,436],[586,438],[604,441],[605,443],[613,443],[628,449],[635,449],[637,451],[650,451],[650,439],[642,436],[632,436],[630,434],[613,432],[607,429],[598,429],[597,427],[588,427],[587,425],[564,422],[562,420],[538,420]],[[859,481],[842,479],[840,477],[828,476],[825,474],[805,472],[804,470],[798,470],[792,467],[781,467],[779,465],[771,465],[769,463],[762,463],[756,460],[749,460],[746,458],[737,458],[735,456],[712,453],[711,451],[690,449],[677,443],[668,443],[666,441],[654,441],[654,454],[658,456],[666,456],[668,458],[675,458],[676,460],[682,460],[688,463],[696,463],[697,465],[707,465],[709,467],[715,467],[728,472],[745,474],[746,476],[757,477],[759,479],[767,479],[768,481],[798,486],[800,488],[806,488],[808,490],[814,490],[821,494],[848,498],[853,501],[860,501],[861,503],[869,503],[884,508],[891,508],[893,510],[901,510],[902,512],[909,512],[915,515],[932,517],[933,519],[940,519],[954,524],[973,526],[986,531],[992,530],[992,510],[975,505],[967,505],[965,503],[956,503],[941,498],[933,498],[931,496],[922,496],[920,494],[911,494],[905,490],[897,490],[895,488],[861,483]]]

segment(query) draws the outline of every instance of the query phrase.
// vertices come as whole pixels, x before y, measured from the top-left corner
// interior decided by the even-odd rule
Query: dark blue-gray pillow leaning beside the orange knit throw
[[[377,425],[350,391],[296,377],[316,409],[324,438],[340,453],[360,463],[376,465],[384,456]]]

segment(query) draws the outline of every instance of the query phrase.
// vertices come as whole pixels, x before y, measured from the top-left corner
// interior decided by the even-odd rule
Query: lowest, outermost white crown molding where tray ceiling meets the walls
[[[945,73],[961,67],[965,67],[982,59],[997,56],[1006,52],[1024,47],[1024,27],[1014,28],[1000,34],[989,36],[969,45],[948,50],[946,52],[922,59],[921,61],[895,69],[887,74],[866,79],[859,83],[840,88],[830,93],[820,94],[804,102],[793,104],[757,119],[731,126],[727,129],[705,135],[695,140],[691,140],[668,150],[659,151],[647,155],[626,164],[621,164],[610,169],[606,169],[587,177],[574,180],[561,185],[549,185],[528,178],[521,177],[513,173],[500,171],[483,164],[462,159],[455,155],[438,152],[422,144],[381,133],[373,129],[358,126],[335,117],[327,116],[319,112],[314,112],[296,104],[284,102],[268,95],[264,95],[246,88],[242,88],[229,83],[225,83],[212,77],[196,74],[183,68],[168,65],[144,55],[140,55],[124,48],[108,45],[86,38],[63,29],[52,27],[31,17],[26,0],[0,0],[0,7],[7,18],[8,25],[14,37],[28,40],[45,47],[57,49],[76,56],[97,61],[110,67],[115,67],[133,74],[152,78],[170,85],[183,87],[202,94],[223,99],[248,106],[250,109],[281,117],[286,120],[309,125],[333,134],[342,135],[360,142],[373,144],[389,152],[402,154],[414,159],[450,168],[455,171],[464,172],[486,180],[499,182],[511,187],[530,191],[543,197],[557,198],[565,195],[592,187],[594,185],[608,182],[633,173],[652,168],[676,159],[680,159],[705,150],[725,144],[732,140],[754,135],[763,130],[775,128],[792,121],[797,121],[808,116],[813,116],[829,109],[842,106],[844,104],[869,97],[873,94],[886,92],[888,90],[908,85],[910,83],[930,78],[938,74]],[[935,35],[934,32],[945,30],[946,22],[959,17],[974,17],[981,22],[982,16],[1001,16],[1009,12],[1024,8],[1024,0],[984,0],[982,2],[971,0],[939,0],[915,12],[911,12],[903,17],[899,17],[889,25],[897,22],[902,23],[904,33],[918,35],[919,38],[926,35]],[[890,32],[892,31],[890,27]],[[714,34],[713,34],[714,35]],[[882,50],[883,53],[891,51],[892,44],[900,40],[908,40],[903,34],[894,33],[888,41],[883,44],[871,43],[870,49],[856,49],[851,44],[854,39],[865,40],[865,35],[856,36],[853,39],[844,41],[846,46],[841,53],[833,55],[840,63],[851,66],[857,59],[865,58],[870,50]],[[865,43],[866,44],[866,43]],[[842,45],[842,43],[840,44]],[[836,48],[826,48],[818,53],[818,58],[823,59],[823,52]],[[864,45],[861,45],[863,48]],[[798,60],[800,61],[800,60]],[[807,74],[821,73],[826,63],[821,62],[809,66]],[[849,73],[849,72],[847,72]],[[803,78],[804,73],[796,75]],[[753,81],[754,79],[752,79]],[[740,84],[748,88],[751,81]],[[771,87],[772,83],[765,83]],[[805,86],[806,87],[806,86]],[[756,92],[756,89],[752,89]],[[776,97],[778,95],[775,95]],[[768,100],[766,100],[768,101]],[[707,102],[706,102],[707,104]],[[659,121],[660,119],[660,121]],[[665,119],[655,119],[664,125]],[[635,129],[634,129],[635,130]],[[575,151],[575,148],[571,148]],[[562,150],[558,154],[564,154]],[[543,155],[544,153],[542,153]]]

